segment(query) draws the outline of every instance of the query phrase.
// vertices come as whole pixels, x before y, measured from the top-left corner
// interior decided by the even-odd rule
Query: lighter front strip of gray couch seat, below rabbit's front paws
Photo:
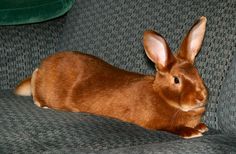
[[[236,153],[236,136],[208,135],[191,140],[175,140],[141,146],[110,149],[99,154],[158,154],[158,153],[193,153],[225,154]],[[69,151],[72,151],[71,149]],[[68,151],[68,152],[69,152]],[[59,152],[59,151],[58,151]]]

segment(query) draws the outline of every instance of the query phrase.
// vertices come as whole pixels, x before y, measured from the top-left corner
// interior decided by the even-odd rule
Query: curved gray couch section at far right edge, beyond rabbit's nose
[[[236,54],[220,93],[219,126],[224,133],[236,135]]]

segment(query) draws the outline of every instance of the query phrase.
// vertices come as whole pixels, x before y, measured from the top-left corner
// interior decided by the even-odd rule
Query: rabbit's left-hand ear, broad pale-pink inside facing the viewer
[[[159,71],[166,71],[175,61],[165,39],[155,31],[145,31],[143,46],[148,58],[156,64]]]

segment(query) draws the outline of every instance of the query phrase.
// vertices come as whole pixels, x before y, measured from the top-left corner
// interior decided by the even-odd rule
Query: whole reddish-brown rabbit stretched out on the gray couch
[[[175,55],[160,34],[144,32],[155,76],[127,72],[91,55],[59,52],[44,59],[15,93],[32,93],[39,107],[109,116],[184,138],[202,136],[208,130],[200,123],[207,90],[193,63],[206,21],[201,17],[192,26]]]

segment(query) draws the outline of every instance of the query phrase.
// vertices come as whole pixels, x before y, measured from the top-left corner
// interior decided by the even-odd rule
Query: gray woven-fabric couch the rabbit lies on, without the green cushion
[[[64,16],[0,26],[0,153],[236,153],[235,0],[79,0]],[[40,60],[79,50],[114,66],[153,74],[141,40],[155,29],[178,48],[199,16],[208,18],[197,68],[209,90],[205,136],[181,139],[162,131],[88,113],[36,107],[12,89]]]

